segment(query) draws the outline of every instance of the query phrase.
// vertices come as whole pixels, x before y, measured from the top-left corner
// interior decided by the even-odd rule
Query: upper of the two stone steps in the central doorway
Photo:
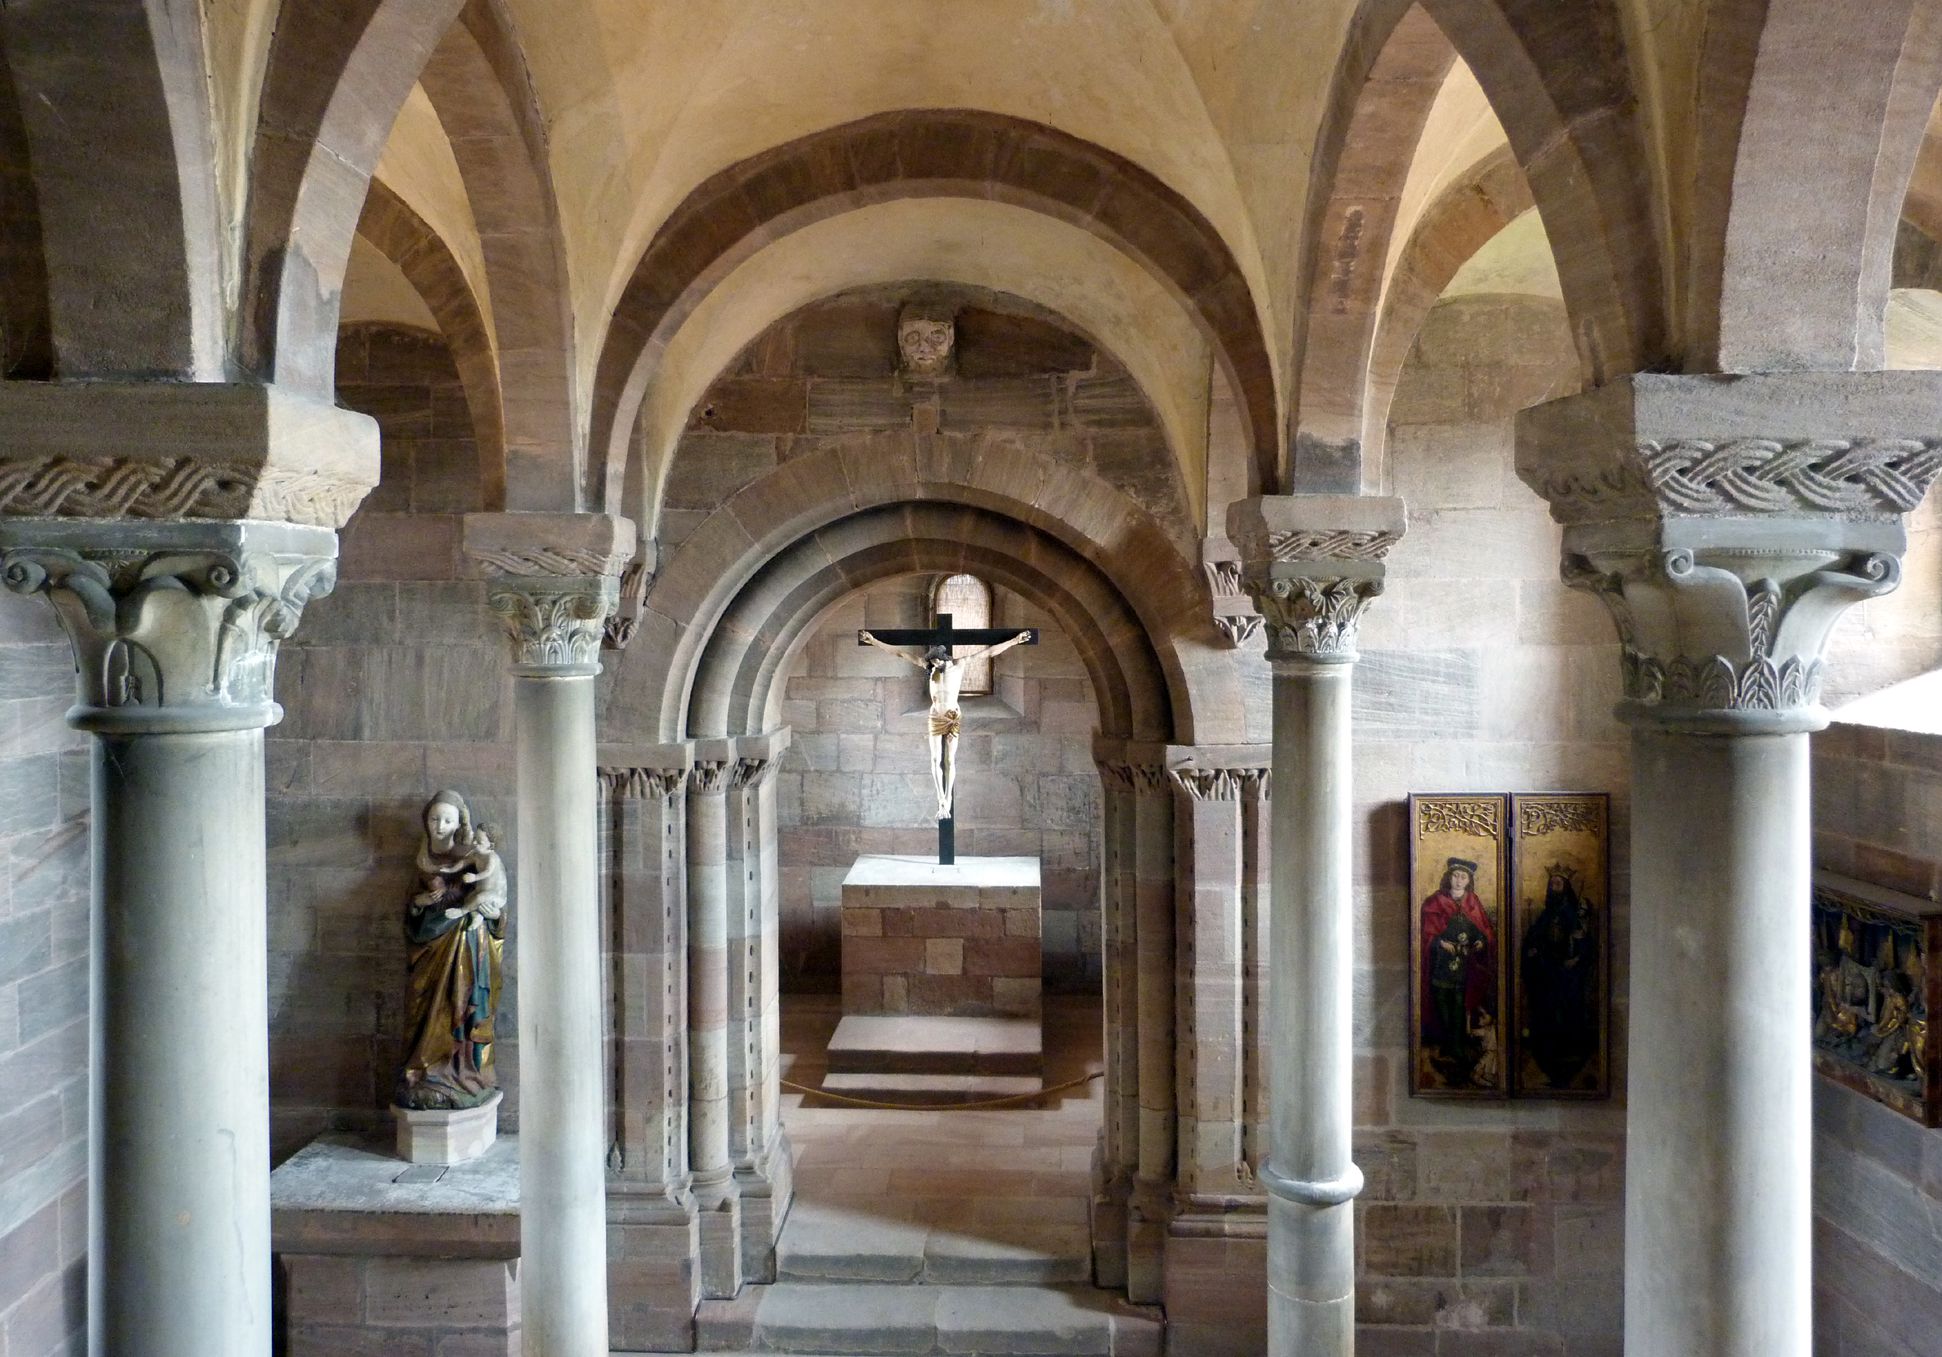
[[[996,1206],[996,1204],[990,1204]],[[952,1213],[948,1223],[796,1202],[775,1246],[779,1281],[1045,1285],[1091,1279],[1084,1221],[1053,1209]]]

